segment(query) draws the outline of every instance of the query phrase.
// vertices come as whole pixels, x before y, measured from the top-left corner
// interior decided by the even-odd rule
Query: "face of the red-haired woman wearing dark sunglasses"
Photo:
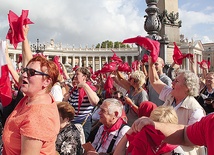
[[[21,91],[27,96],[34,96],[42,89],[47,87],[47,85],[45,84],[46,75],[41,70],[39,61],[31,62],[26,68],[27,69],[24,70],[21,75]],[[30,74],[30,71],[34,72],[35,75]],[[44,75],[42,75],[43,73]]]

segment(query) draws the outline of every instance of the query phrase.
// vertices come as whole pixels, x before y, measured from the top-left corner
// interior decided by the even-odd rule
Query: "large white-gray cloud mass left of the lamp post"
[[[127,37],[146,35],[144,17],[140,16],[135,0],[10,0],[2,2],[0,19],[7,22],[9,10],[17,15],[29,10],[29,39],[89,46],[105,40],[123,41]],[[144,4],[145,5],[145,4]],[[0,25],[0,37],[9,27]],[[8,25],[8,24],[7,24]]]

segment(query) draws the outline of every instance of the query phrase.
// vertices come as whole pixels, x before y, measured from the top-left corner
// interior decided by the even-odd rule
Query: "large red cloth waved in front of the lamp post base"
[[[156,62],[160,52],[160,43],[158,41],[146,38],[146,37],[135,37],[125,39],[123,43],[136,43],[139,46],[144,47],[146,50],[150,51],[150,56],[152,57],[152,62]]]

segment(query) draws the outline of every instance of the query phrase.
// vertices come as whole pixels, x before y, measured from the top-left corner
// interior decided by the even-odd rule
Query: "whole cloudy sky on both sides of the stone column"
[[[1,2],[2,1],[2,2]],[[168,0],[170,1],[170,0]],[[173,1],[173,0],[171,0]],[[29,10],[29,41],[71,47],[91,47],[106,40],[123,41],[146,36],[145,0],[0,0],[0,39],[9,29],[9,10]],[[214,42],[214,1],[179,0],[180,34],[189,40]]]

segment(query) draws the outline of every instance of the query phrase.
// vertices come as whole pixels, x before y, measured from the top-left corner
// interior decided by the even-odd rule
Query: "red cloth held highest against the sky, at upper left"
[[[6,38],[10,40],[16,49],[19,42],[24,41],[23,25],[33,24],[28,16],[28,10],[22,10],[22,14],[18,17],[13,11],[9,11],[8,21],[10,29],[8,30]]]

